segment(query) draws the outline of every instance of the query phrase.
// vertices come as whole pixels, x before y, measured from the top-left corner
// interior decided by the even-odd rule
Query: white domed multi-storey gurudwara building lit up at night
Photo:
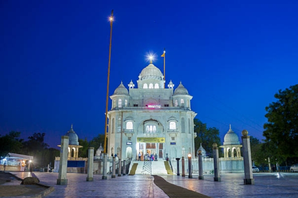
[[[110,96],[108,112],[108,154],[138,158],[146,153],[166,157],[195,156],[194,117],[187,89],[180,84],[165,87],[161,71],[150,62],[128,89],[121,84]]]

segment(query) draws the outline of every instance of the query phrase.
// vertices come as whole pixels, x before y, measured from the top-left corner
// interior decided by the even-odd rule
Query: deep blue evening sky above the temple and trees
[[[71,124],[80,139],[104,133],[110,92],[156,54],[166,85],[182,81],[196,118],[263,139],[265,106],[298,83],[298,1],[2,0],[0,134],[45,132],[56,148]],[[109,109],[111,105],[109,105]]]

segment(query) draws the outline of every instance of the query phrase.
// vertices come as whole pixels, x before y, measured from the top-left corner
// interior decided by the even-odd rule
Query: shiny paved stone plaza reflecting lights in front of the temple
[[[29,172],[12,172],[20,178]],[[86,182],[86,174],[68,173],[68,185],[56,185],[58,173],[34,172],[40,183],[55,188],[46,198],[168,198],[154,184],[150,175],[125,175],[102,180],[93,175],[93,182]],[[243,185],[244,174],[221,174],[221,182],[214,182],[212,174],[204,180],[188,176],[162,175],[167,182],[212,198],[298,198],[298,173],[256,173],[255,185]],[[175,186],[172,187],[175,190]],[[176,187],[177,188],[177,187]],[[187,197],[183,196],[182,198]],[[25,197],[18,197],[25,198]]]

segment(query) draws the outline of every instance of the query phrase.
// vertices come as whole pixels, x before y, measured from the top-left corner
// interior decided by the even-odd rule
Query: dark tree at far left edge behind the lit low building
[[[0,137],[0,157],[5,157],[8,152],[19,153],[23,147],[23,139],[19,139],[20,134],[20,132],[10,131]]]

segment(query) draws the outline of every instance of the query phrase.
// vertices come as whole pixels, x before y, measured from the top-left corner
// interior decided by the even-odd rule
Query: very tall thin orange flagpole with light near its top
[[[105,124],[104,124],[104,145],[103,145],[103,152],[106,153],[106,145],[107,145],[107,124],[108,124],[108,103],[109,103],[109,84],[110,84],[110,65],[111,65],[111,49],[112,49],[112,28],[113,28],[113,12],[112,10],[110,20],[110,50],[109,50],[109,66],[108,66],[108,82],[107,82],[107,97],[106,97],[106,112],[105,112]]]

